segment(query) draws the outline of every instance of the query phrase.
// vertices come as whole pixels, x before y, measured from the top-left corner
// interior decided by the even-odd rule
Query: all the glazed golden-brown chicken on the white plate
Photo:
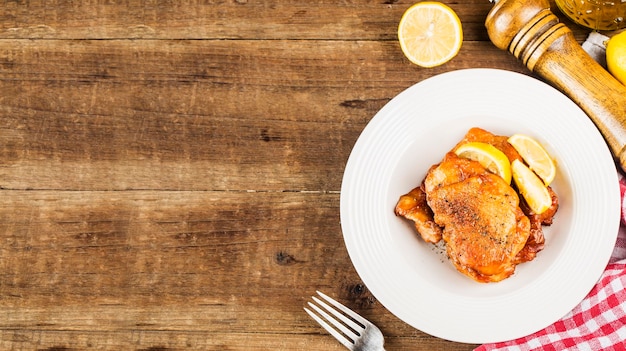
[[[472,128],[418,187],[400,197],[395,213],[413,221],[426,242],[443,240],[459,272],[478,282],[498,282],[543,249],[542,226],[552,223],[558,198],[548,187],[552,206],[533,213],[501,177],[454,153],[474,141],[495,146],[510,161],[521,158],[506,136]]]

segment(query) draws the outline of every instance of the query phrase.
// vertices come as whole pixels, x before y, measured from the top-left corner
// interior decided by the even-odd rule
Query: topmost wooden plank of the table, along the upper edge
[[[395,40],[410,2],[380,1],[3,1],[0,35],[51,39]],[[467,32],[480,29],[488,1],[452,4]]]

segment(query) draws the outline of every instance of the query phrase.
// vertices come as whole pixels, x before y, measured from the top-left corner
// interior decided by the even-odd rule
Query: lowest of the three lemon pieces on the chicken
[[[542,214],[552,206],[552,197],[541,179],[520,160],[511,163],[513,181],[528,207],[536,214]]]

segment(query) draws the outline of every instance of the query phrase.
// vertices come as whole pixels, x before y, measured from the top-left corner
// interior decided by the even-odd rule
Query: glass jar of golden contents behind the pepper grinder
[[[555,0],[572,21],[593,30],[626,28],[626,0]]]

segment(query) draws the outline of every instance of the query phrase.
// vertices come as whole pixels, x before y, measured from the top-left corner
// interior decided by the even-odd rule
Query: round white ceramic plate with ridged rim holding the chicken
[[[393,211],[471,127],[531,135],[558,165],[545,248],[499,283],[457,272]],[[398,318],[457,342],[515,339],[568,313],[606,267],[619,219],[615,165],[593,123],[554,88],[502,70],[445,73],[400,93],[363,130],[341,187],[344,240],[363,282]]]

